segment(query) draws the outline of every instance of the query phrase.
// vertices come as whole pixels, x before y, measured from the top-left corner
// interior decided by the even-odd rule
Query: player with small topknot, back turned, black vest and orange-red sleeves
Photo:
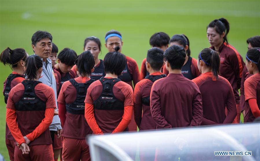
[[[106,76],[87,90],[85,118],[94,134],[128,131],[133,113],[132,87],[118,79],[125,68],[126,57],[118,46],[114,50],[104,58]]]

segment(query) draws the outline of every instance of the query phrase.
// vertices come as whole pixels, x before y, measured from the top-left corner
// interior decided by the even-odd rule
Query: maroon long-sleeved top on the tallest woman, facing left
[[[214,47],[211,47],[215,50]],[[224,42],[220,48],[220,75],[226,79],[231,84],[236,104],[239,104],[239,93],[238,89],[241,85],[242,71],[245,66],[242,56],[237,52],[237,50]]]

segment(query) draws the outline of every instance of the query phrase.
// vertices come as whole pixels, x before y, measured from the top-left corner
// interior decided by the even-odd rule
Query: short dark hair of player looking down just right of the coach
[[[71,50],[69,48],[64,48],[60,51],[58,55],[58,59],[60,59],[60,62],[64,63],[67,66],[74,65],[74,62],[77,58],[77,53],[74,50]]]

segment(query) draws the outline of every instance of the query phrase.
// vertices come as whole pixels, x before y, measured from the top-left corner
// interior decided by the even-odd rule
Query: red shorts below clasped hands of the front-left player
[[[23,154],[19,147],[14,148],[14,160],[19,161],[54,161],[52,145],[32,145],[29,146],[29,154]]]

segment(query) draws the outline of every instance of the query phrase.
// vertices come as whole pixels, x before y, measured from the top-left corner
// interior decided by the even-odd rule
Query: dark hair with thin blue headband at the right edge
[[[246,53],[246,60],[255,63],[260,72],[260,48],[249,49]]]

